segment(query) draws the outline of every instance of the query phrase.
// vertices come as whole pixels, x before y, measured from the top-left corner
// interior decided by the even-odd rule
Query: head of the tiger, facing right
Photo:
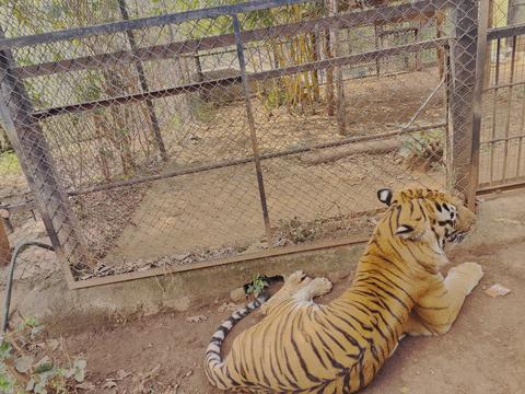
[[[390,235],[401,244],[415,243],[419,248],[428,246],[434,254],[432,265],[438,269],[448,263],[444,253],[446,243],[462,242],[476,223],[475,213],[448,193],[382,188],[377,197],[388,206],[384,224]]]

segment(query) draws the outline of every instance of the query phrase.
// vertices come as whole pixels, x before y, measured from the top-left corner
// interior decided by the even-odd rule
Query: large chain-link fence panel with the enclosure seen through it
[[[474,204],[477,1],[107,3],[38,34],[1,9],[3,124],[71,287],[362,240],[385,185]]]

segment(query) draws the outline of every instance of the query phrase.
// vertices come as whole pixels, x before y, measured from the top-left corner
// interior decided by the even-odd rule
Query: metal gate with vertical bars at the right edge
[[[525,187],[525,25],[508,25],[512,2],[487,5],[478,194]]]

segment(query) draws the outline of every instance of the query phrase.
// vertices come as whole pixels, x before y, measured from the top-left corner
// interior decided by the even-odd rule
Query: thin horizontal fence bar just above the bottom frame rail
[[[340,147],[340,146],[345,146],[345,144],[349,144],[349,143],[353,143],[353,142],[382,140],[382,139],[387,139],[387,138],[390,138],[390,137],[397,137],[397,136],[401,136],[401,135],[412,134],[412,132],[417,132],[417,131],[424,131],[424,130],[431,130],[431,129],[435,129],[435,128],[440,128],[440,127],[446,127],[446,125],[447,124],[445,121],[442,121],[442,123],[432,124],[432,125],[411,127],[409,129],[400,128],[400,129],[397,129],[397,130],[387,131],[387,132],[377,134],[377,135],[371,135],[371,136],[349,137],[349,138],[340,139],[338,141],[317,143],[317,144],[311,146],[311,147],[291,148],[291,149],[282,150],[280,152],[264,153],[264,154],[260,155],[260,160],[283,158],[283,157],[291,155],[291,154],[304,153],[304,152],[310,152],[310,151],[318,150],[318,149],[335,148],[335,147]],[[168,172],[158,174],[158,175],[142,176],[142,177],[137,177],[135,179],[119,181],[119,182],[114,182],[114,183],[110,183],[110,184],[91,186],[91,187],[86,187],[86,188],[83,188],[83,189],[77,189],[77,190],[70,190],[68,193],[68,195],[69,196],[79,196],[79,195],[84,195],[84,194],[89,194],[89,193],[110,190],[110,189],[115,189],[115,188],[124,187],[124,186],[131,186],[131,185],[142,184],[142,183],[147,183],[147,182],[167,179],[167,178],[175,177],[175,176],[180,176],[180,175],[195,174],[195,173],[199,173],[199,172],[203,172],[203,171],[218,170],[218,169],[224,169],[224,167],[234,166],[234,165],[252,163],[253,161],[254,161],[253,157],[244,158],[244,159],[228,160],[228,161],[223,161],[223,162],[220,162],[220,163],[200,165],[200,166],[196,166],[196,167],[187,169],[187,170],[168,171]]]

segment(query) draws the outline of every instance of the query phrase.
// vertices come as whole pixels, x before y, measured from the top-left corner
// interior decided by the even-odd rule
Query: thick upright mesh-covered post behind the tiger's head
[[[451,184],[466,194],[467,204],[474,206],[472,190],[472,120],[476,84],[476,56],[478,42],[478,1],[462,0],[454,9],[455,37],[452,46],[452,83],[448,94],[448,140],[453,179]]]

